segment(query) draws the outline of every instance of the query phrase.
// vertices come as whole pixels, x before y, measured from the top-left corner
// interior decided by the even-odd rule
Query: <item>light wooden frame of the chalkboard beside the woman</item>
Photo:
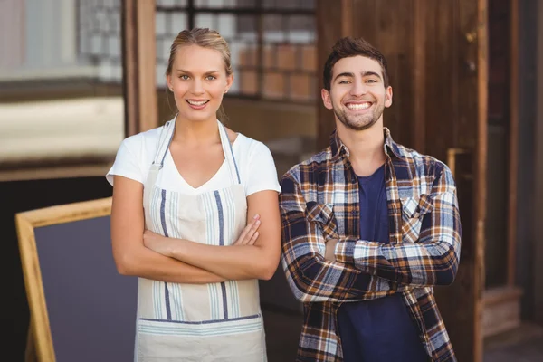
[[[33,360],[34,357],[37,357],[40,361],[55,361],[34,229],[41,226],[109,216],[110,214],[111,197],[45,207],[15,214],[24,287],[31,315],[25,357],[27,361]]]

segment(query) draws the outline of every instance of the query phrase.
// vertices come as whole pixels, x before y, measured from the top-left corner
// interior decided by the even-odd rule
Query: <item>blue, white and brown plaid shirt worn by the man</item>
[[[456,361],[433,297],[433,285],[454,281],[460,258],[454,180],[443,162],[384,132],[390,244],[359,240],[357,176],[336,132],[329,148],[281,177],[281,263],[304,312],[297,361],[342,361],[339,305],[397,292],[429,360]],[[336,262],[324,258],[329,238],[338,239]]]

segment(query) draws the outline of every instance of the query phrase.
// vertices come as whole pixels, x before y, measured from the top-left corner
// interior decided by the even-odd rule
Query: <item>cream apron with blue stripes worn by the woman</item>
[[[247,201],[226,130],[217,122],[230,179],[224,188],[200,195],[156,185],[175,119],[163,127],[144,186],[148,230],[210,245],[232,244],[243,231]],[[266,361],[258,281],[178,284],[139,278],[135,353],[138,362]]]

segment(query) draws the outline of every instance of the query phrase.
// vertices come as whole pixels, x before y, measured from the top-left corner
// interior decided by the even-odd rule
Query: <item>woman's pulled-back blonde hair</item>
[[[226,75],[229,76],[233,73],[232,63],[230,59],[230,47],[224,40],[220,33],[208,28],[194,28],[192,30],[184,30],[178,33],[174,43],[170,47],[170,55],[167,61],[166,75],[171,75],[174,61],[176,60],[176,53],[182,46],[198,45],[202,48],[213,49],[220,52],[223,57],[224,70]],[[223,104],[217,110],[217,118],[225,121],[227,119],[226,113],[224,113]]]

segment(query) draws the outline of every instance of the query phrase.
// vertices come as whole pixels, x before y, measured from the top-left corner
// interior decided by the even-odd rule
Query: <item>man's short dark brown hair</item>
[[[357,55],[365,56],[381,64],[381,69],[383,71],[383,82],[385,83],[385,88],[388,87],[388,73],[386,71],[385,56],[379,52],[375,46],[367,43],[367,41],[363,38],[346,36],[345,38],[339,39],[338,42],[334,44],[332,47],[332,52],[324,64],[323,78],[325,90],[330,90],[332,82],[332,68],[334,68],[334,65],[340,59]]]

